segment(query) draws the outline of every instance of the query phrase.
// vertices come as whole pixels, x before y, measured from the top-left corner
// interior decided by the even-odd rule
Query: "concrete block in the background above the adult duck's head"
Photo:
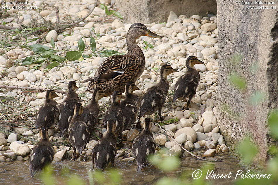
[[[215,0],[116,0],[116,7],[127,23],[167,22],[170,11],[187,17],[217,12]]]

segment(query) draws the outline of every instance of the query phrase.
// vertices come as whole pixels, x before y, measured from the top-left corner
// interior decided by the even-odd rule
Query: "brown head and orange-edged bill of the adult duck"
[[[138,39],[139,37],[144,35],[153,38],[162,38],[161,36],[148,30],[147,27],[141,23],[134,23],[129,27],[129,30],[127,32],[127,37],[133,37],[135,39]]]

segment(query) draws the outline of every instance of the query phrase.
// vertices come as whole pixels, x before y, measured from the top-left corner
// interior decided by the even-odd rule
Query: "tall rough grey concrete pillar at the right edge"
[[[258,5],[217,0],[217,121],[231,151],[246,134],[252,136],[259,148],[256,161],[261,163],[267,159],[268,144],[272,142],[267,115],[278,108],[278,10],[250,10],[244,6]],[[229,80],[231,72],[246,80],[246,90],[234,88]],[[251,104],[250,97],[257,92],[263,93],[264,99]]]

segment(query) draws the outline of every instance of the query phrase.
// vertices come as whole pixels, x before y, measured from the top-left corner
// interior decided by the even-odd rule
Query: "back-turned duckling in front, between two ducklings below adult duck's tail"
[[[81,155],[90,136],[89,128],[81,117],[83,107],[81,103],[77,103],[74,108],[73,118],[68,126],[68,140],[73,146],[73,159],[76,158],[75,149]]]

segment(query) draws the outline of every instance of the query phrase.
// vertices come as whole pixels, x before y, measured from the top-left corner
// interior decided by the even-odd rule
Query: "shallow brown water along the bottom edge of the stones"
[[[133,184],[133,185],[145,185],[145,184],[154,184],[161,177],[181,177],[181,175],[185,174],[186,179],[192,181],[192,173],[201,169],[203,166],[207,164],[213,164],[214,171],[219,174],[229,174],[232,172],[230,179],[216,179],[211,181],[212,184],[215,185],[229,185],[234,184],[234,177],[237,170],[242,169],[243,167],[238,165],[238,160],[233,156],[226,155],[224,157],[215,157],[219,160],[223,160],[221,162],[207,162],[203,160],[198,160],[192,157],[183,157],[181,160],[181,164],[178,170],[174,172],[164,173],[161,170],[156,169],[154,166],[148,165],[145,166],[142,172],[136,173],[136,162],[122,162],[116,158],[115,167],[120,171],[122,175],[122,183],[121,184]],[[213,159],[215,159],[213,158]],[[92,161],[72,161],[72,160],[63,160],[60,162],[56,162],[53,164],[53,168],[55,170],[54,174],[61,175],[63,173],[63,168],[66,167],[69,169],[70,174],[75,174],[80,178],[84,179],[88,184],[88,170],[92,165]],[[243,170],[243,169],[242,169]],[[105,171],[104,173],[107,173]],[[202,177],[206,177],[207,171],[203,172]],[[66,178],[71,175],[66,175]],[[65,177],[65,176],[64,176]],[[188,181],[187,180],[187,181]],[[16,162],[1,162],[0,163],[0,184],[5,185],[36,185],[42,184],[40,180],[40,172],[35,175],[34,178],[30,177],[29,172],[29,162],[28,161],[16,161]],[[58,183],[65,184],[65,183]]]

